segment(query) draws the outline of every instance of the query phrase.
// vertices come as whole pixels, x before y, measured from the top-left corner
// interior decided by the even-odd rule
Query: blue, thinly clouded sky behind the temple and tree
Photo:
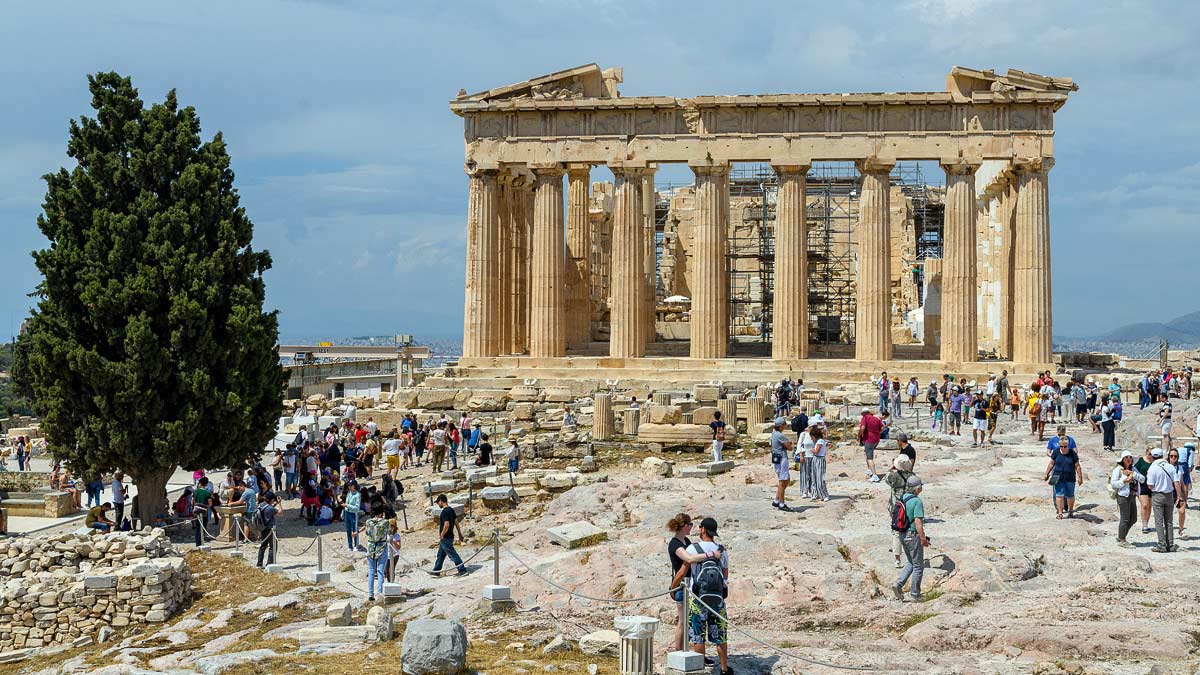
[[[7,2],[0,330],[37,282],[40,175],[85,76],[170,88],[223,131],[284,335],[462,328],[460,88],[595,61],[625,95],[906,91],[950,66],[1073,77],[1050,174],[1055,333],[1200,309],[1200,6],[1190,2]]]

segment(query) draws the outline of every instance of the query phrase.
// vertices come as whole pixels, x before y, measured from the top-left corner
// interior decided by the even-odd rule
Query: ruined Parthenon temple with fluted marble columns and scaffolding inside
[[[1048,175],[1070,79],[954,67],[936,92],[691,98],[622,82],[590,64],[450,102],[461,375],[1051,366]],[[668,165],[694,181],[656,183]]]

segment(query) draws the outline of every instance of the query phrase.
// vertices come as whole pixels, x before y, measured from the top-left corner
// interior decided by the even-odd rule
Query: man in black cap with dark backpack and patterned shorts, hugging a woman
[[[786,462],[786,459],[785,459]],[[706,518],[700,521],[700,540],[677,555],[690,565],[679,567],[671,587],[691,578],[691,595],[688,603],[688,641],[692,651],[704,653],[704,644],[716,647],[721,662],[721,675],[732,675],[728,653],[728,611],[725,598],[728,596],[730,554],[725,546],[713,539],[716,537],[716,520]]]

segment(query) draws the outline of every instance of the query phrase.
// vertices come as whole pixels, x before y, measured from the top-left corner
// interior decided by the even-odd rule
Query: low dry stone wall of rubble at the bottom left
[[[162,530],[0,540],[0,651],[167,621],[192,573]]]

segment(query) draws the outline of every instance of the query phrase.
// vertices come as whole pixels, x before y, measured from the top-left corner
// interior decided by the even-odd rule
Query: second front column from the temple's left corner
[[[533,265],[529,280],[529,356],[566,356],[563,169],[534,168]]]

